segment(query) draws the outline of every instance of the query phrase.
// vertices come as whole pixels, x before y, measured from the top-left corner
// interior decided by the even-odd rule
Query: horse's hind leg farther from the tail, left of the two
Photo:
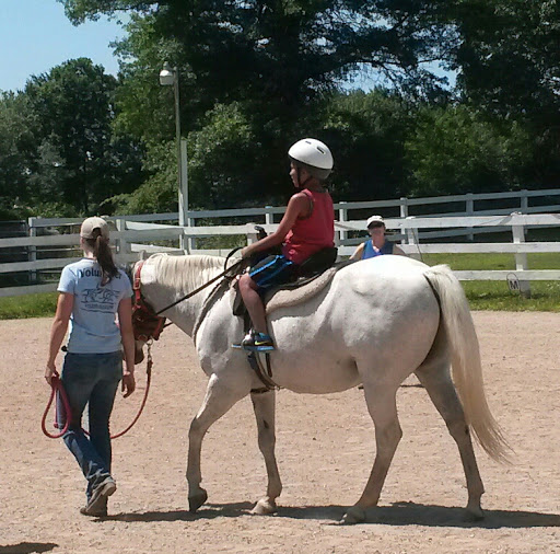
[[[365,402],[375,426],[376,454],[370,478],[362,496],[342,518],[342,523],[360,523],[365,520],[365,509],[376,506],[389,470],[390,462],[402,437],[397,415],[395,386],[382,383],[363,383]]]

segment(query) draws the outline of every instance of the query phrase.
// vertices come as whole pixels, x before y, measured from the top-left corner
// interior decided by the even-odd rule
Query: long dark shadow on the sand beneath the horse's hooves
[[[116,521],[196,521],[199,519],[237,518],[247,516],[253,508],[250,503],[207,504],[196,513],[188,510],[144,511],[109,516]],[[342,506],[279,507],[275,518],[315,519],[326,523],[337,523],[347,508]],[[395,503],[368,510],[365,524],[383,526],[425,526],[485,529],[525,529],[533,527],[560,527],[560,515],[537,511],[485,510],[481,521],[465,519],[464,508],[450,508],[415,503]],[[2,551],[0,550],[0,553]],[[23,551],[22,551],[23,552]]]

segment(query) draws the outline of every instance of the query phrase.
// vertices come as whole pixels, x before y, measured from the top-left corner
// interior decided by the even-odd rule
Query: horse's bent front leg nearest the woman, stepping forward
[[[190,424],[188,432],[187,483],[189,510],[195,512],[206,503],[207,492],[200,486],[200,451],[202,439],[210,426],[247,394],[246,389],[232,386],[213,374],[208,381],[205,401]]]

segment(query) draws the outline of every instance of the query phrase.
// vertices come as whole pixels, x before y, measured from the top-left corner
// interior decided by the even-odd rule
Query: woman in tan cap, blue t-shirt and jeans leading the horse
[[[101,517],[107,515],[107,498],[117,488],[110,474],[113,403],[119,381],[125,396],[136,386],[132,289],[127,275],[115,265],[104,219],[83,221],[80,247],[83,258],[67,265],[60,276],[45,379],[50,385],[57,374],[57,354],[70,325],[60,381],[71,413],[66,414],[69,425],[62,438],[88,482],[86,504],[80,512]],[[86,404],[89,436],[82,429]]]

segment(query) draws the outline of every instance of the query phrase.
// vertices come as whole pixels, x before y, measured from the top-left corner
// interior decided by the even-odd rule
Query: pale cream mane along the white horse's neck
[[[188,291],[209,281],[221,269],[224,258],[219,256],[170,256],[153,254],[147,259],[153,268],[154,282]]]

